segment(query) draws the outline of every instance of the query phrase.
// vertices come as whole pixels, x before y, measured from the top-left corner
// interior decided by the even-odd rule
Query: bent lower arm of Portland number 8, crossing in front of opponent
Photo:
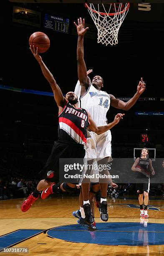
[[[89,114],[89,121],[90,121],[90,125],[88,126],[88,128],[97,133],[97,134],[101,134],[101,133],[105,133],[106,131],[110,130],[112,127],[114,127],[114,125],[118,124],[120,119],[123,119],[123,116],[125,114],[117,114],[114,118],[114,121],[111,123],[108,123],[107,125],[103,125],[103,126],[97,126],[96,123],[92,120],[91,115]]]

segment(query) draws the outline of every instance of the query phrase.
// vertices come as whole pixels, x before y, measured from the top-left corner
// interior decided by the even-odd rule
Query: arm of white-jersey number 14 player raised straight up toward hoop
[[[76,28],[77,28],[77,33],[78,33],[78,45],[77,45],[77,61],[78,61],[78,79],[81,84],[81,95],[83,95],[89,84],[88,84],[88,79],[87,79],[87,71],[86,71],[86,64],[84,61],[84,46],[83,46],[83,41],[84,41],[84,35],[88,28],[84,28],[85,26],[85,20],[80,18],[78,19],[78,25],[74,22]]]

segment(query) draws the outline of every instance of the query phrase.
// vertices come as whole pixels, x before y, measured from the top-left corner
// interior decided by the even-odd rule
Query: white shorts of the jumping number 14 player
[[[86,147],[87,159],[111,158],[111,131],[108,130],[100,135],[87,131]]]

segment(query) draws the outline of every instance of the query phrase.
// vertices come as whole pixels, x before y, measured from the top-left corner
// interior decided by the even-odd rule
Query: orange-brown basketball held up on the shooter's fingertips
[[[38,53],[43,53],[50,47],[50,39],[43,32],[35,32],[29,38],[29,45],[38,47]]]

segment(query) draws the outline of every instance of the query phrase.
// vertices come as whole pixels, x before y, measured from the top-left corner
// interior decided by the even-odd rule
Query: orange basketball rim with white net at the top
[[[110,3],[103,5],[102,3],[93,5],[92,3],[86,3],[85,5],[98,30],[98,43],[118,44],[119,29],[128,13],[130,4]]]

